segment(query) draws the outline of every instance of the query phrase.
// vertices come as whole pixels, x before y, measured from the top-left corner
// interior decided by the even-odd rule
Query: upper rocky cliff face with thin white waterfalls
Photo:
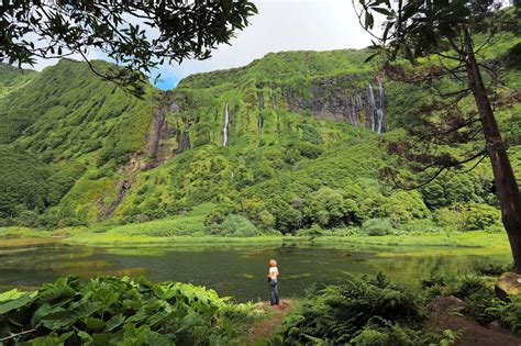
[[[177,153],[208,143],[263,146],[302,132],[298,123],[309,115],[385,132],[385,85],[363,64],[365,56],[364,51],[285,52],[186,78],[171,91],[176,109],[165,121],[177,134]],[[168,134],[163,138],[171,144]]]

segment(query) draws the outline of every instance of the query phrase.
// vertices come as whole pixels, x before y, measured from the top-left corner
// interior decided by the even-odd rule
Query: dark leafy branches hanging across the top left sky
[[[102,52],[124,68],[100,77],[134,88],[164,62],[204,59],[229,43],[256,13],[247,0],[12,0],[0,4],[0,60],[21,66],[36,58]]]

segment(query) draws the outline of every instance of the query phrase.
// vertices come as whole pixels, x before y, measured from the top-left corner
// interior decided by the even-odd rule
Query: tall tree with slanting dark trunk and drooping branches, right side
[[[499,96],[501,80],[494,62],[477,57],[498,33],[519,31],[519,12],[501,10],[494,0],[393,2],[353,0],[367,31],[375,32],[375,15],[386,16],[381,34],[374,34],[375,55],[385,57],[384,70],[392,79],[439,88],[436,100],[423,105],[413,121],[417,126],[409,129],[411,139],[388,147],[403,154],[418,170],[432,172],[429,180],[448,168],[475,167],[488,157],[514,269],[521,272],[521,197],[492,108],[492,101],[500,105],[520,98],[519,93]],[[475,37],[480,37],[479,44]],[[408,68],[401,57],[413,65],[424,59],[421,68]],[[472,108],[462,105],[469,99]],[[483,146],[477,146],[476,138],[485,145],[478,141]],[[454,147],[461,150],[455,154]]]

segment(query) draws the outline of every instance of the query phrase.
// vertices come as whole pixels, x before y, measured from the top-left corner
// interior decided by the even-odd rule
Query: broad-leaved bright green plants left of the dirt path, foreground
[[[144,278],[65,277],[35,292],[0,294],[0,338],[36,345],[215,345],[254,312],[212,290]]]

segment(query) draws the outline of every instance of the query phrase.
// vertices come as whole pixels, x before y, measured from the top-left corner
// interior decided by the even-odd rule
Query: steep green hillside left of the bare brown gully
[[[118,167],[143,149],[154,92],[131,97],[67,59],[19,82],[0,99],[0,222],[63,227],[97,220]]]

